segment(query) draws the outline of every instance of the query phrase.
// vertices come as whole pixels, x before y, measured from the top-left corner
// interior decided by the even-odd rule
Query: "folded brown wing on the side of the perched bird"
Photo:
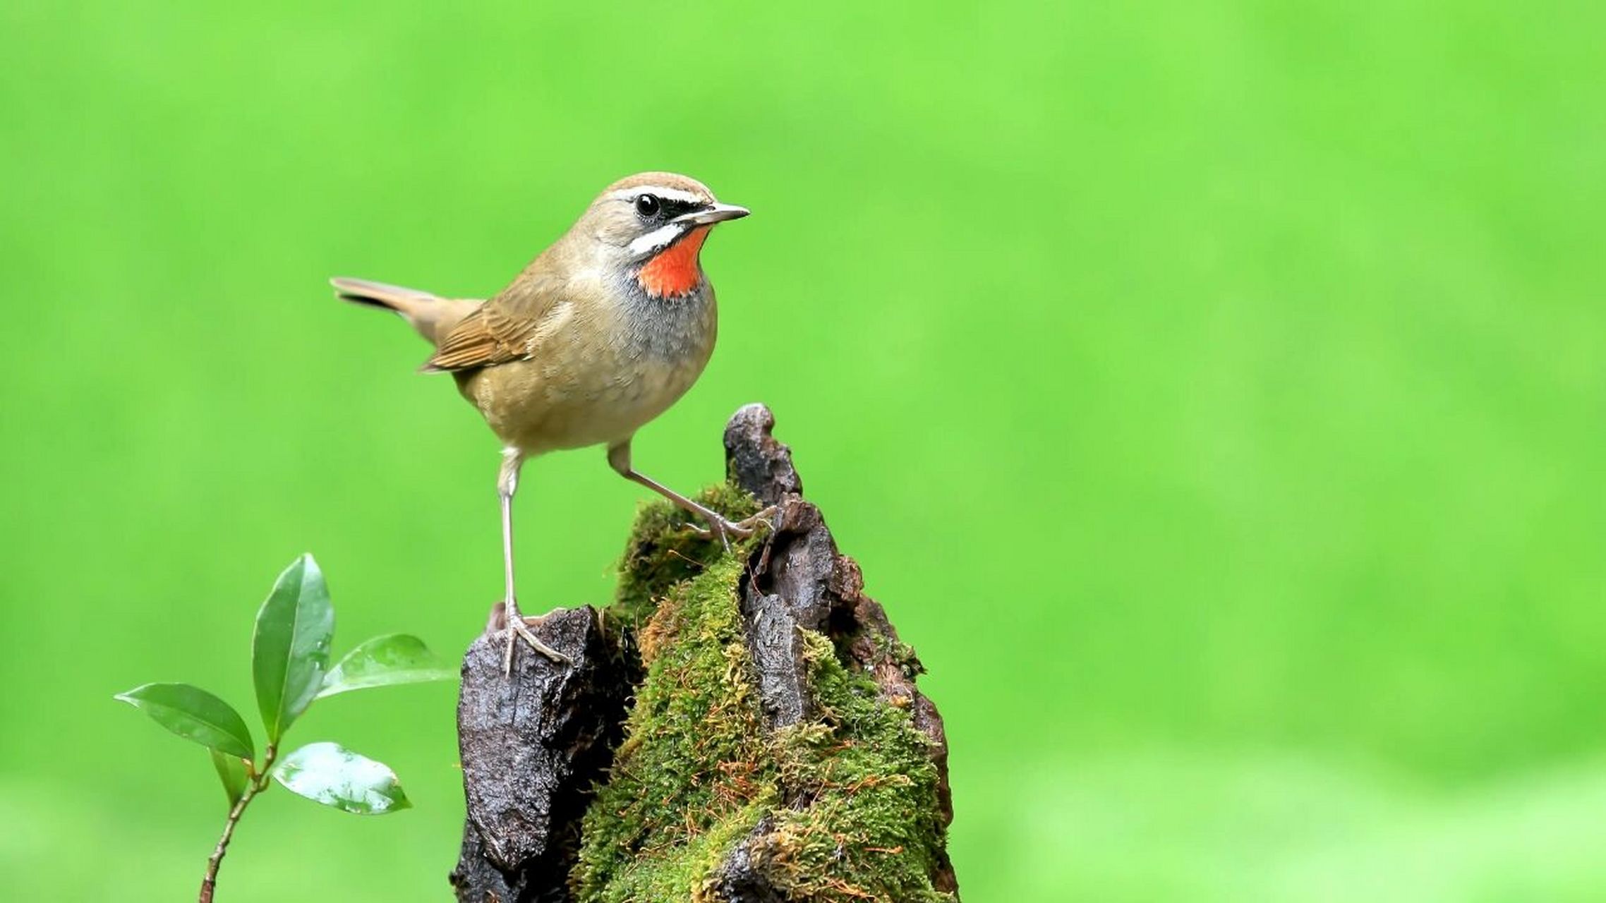
[[[530,360],[559,297],[556,280],[527,272],[453,326],[424,370],[438,373]]]

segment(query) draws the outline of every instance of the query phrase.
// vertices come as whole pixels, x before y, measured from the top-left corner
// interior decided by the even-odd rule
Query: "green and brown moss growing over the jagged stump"
[[[755,509],[729,487],[700,500],[732,516]],[[943,831],[925,736],[817,633],[805,648],[821,715],[771,734],[737,601],[747,548],[726,554],[686,522],[662,505],[641,513],[609,609],[638,628],[646,676],[586,811],[577,897],[700,900],[769,816],[774,829],[750,853],[792,900],[949,900],[928,879]]]

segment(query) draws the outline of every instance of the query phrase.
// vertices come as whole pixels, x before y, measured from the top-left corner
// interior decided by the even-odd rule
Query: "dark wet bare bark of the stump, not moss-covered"
[[[790,448],[772,435],[763,405],[739,410],[724,431],[732,482],[763,505],[774,505],[774,530],[748,553],[740,607],[753,676],[768,729],[817,715],[803,659],[803,630],[834,643],[845,665],[874,678],[878,704],[909,712],[930,739],[938,768],[938,824],[952,819],[948,742],[936,707],[915,689],[920,665],[898,643],[887,612],[862,595],[853,559],[838,554],[819,509],[803,498]],[[496,627],[493,619],[493,627]],[[573,900],[580,821],[596,782],[605,781],[620,742],[630,694],[642,672],[630,644],[610,641],[589,607],[557,609],[535,627],[549,646],[575,659],[556,665],[528,648],[503,675],[503,641],[487,633],[463,662],[458,734],[467,823],[451,884],[459,901],[524,903]],[[790,807],[805,799],[784,800]],[[723,858],[703,887],[713,900],[782,903],[798,900],[782,887],[797,876],[772,874],[766,856],[772,819]],[[930,869],[931,887],[954,893],[957,882],[941,848]]]

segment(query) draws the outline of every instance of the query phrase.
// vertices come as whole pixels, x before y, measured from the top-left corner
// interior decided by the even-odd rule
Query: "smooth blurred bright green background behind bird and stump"
[[[490,432],[324,278],[493,292],[673,169],[755,214],[636,461],[776,410],[967,900],[1606,898],[1606,16],[1314,6],[5,3],[8,892],[194,892],[206,754],[111,694],[251,712],[294,554],[337,652],[499,596]],[[525,468],[525,606],[609,599],[642,496]],[[418,808],[276,791],[220,900],[446,898],[453,701],[320,702]]]

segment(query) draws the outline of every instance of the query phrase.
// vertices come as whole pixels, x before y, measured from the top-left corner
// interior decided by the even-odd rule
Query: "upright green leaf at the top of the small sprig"
[[[323,572],[310,554],[291,562],[273,583],[251,639],[251,675],[257,709],[276,744],[291,723],[312,705],[329,670],[334,606]]]

